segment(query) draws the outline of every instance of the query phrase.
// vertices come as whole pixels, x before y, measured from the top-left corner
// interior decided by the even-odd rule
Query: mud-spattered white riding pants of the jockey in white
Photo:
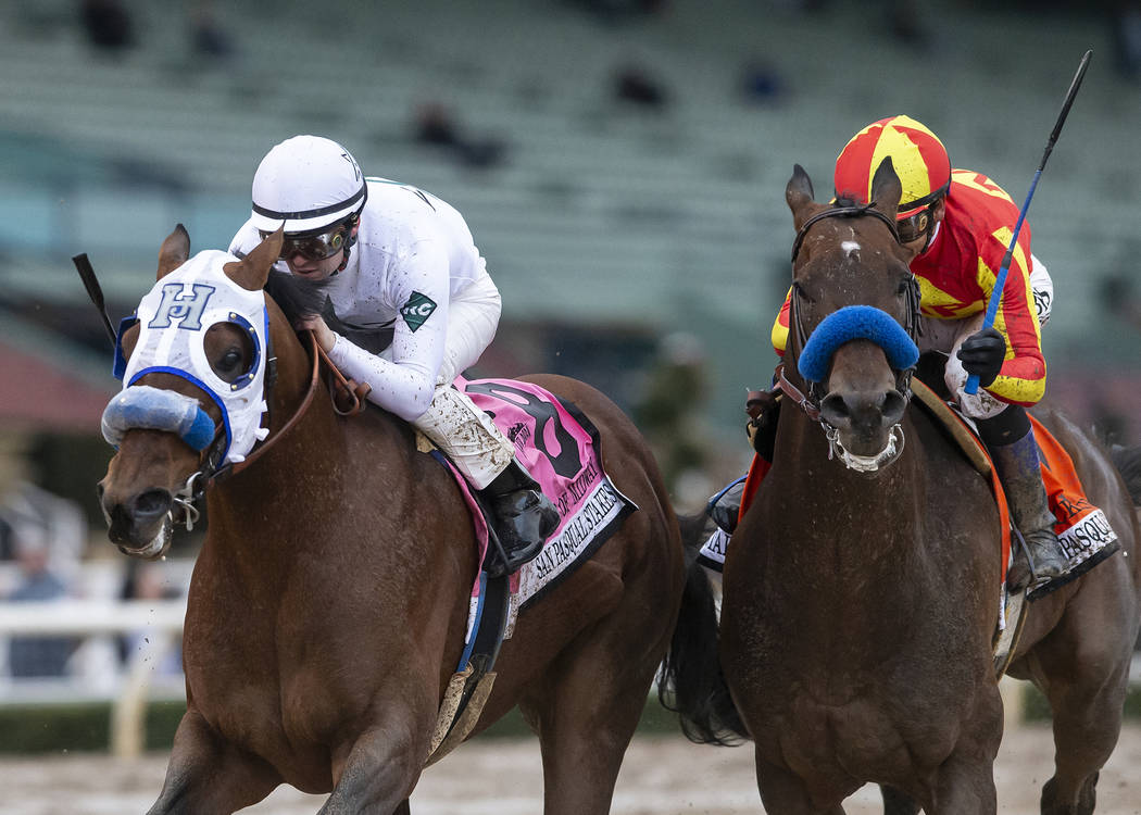
[[[452,382],[491,345],[499,317],[500,293],[486,275],[452,298],[436,393],[428,410],[412,421],[476,490],[483,490],[507,469],[515,445]]]

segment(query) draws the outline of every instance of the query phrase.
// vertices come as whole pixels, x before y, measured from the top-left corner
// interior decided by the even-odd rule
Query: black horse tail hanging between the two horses
[[[713,589],[697,563],[705,515],[680,517],[686,547],[686,588],[670,652],[657,677],[662,707],[678,713],[681,732],[698,744],[738,744],[748,739],[718,660],[718,620]]]

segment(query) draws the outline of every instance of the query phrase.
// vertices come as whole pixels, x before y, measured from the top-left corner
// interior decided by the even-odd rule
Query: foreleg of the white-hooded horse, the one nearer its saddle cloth
[[[428,755],[427,741],[410,732],[388,723],[363,733],[343,756],[334,753],[335,785],[317,815],[407,815],[408,794]]]

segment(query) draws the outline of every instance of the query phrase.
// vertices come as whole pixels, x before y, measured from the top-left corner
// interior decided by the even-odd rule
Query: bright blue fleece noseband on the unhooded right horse
[[[823,382],[836,348],[853,339],[872,340],[883,348],[888,364],[897,371],[912,368],[920,358],[915,341],[887,312],[874,306],[844,306],[825,317],[808,338],[796,360],[800,374]]]

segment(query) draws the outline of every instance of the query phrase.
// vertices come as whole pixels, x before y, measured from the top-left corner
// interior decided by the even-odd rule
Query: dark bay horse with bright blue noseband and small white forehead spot
[[[1000,515],[988,481],[909,404],[899,369],[914,360],[900,361],[899,338],[914,333],[919,296],[895,233],[899,180],[887,160],[873,204],[820,204],[796,166],[785,196],[794,316],[771,470],[728,547],[720,630],[691,568],[659,683],[695,741],[754,742],[772,815],[840,815],[865,783],[881,786],[889,815],[993,814]],[[806,345],[849,306],[877,309],[890,330],[840,342],[814,384],[798,365]],[[1131,495],[1106,451],[1060,413],[1034,413],[1122,546],[1029,605],[1009,667],[1053,712],[1042,812],[1089,814],[1138,635],[1141,490]]]

